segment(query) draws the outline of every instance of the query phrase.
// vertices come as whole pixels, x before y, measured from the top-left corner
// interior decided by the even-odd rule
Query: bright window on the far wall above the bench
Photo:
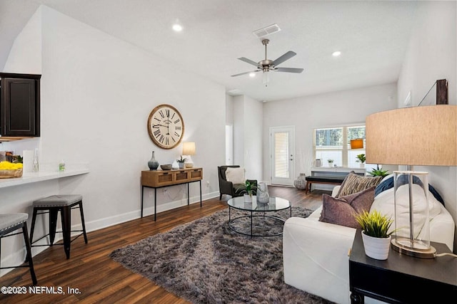
[[[323,166],[326,166],[327,159],[333,159],[333,164],[338,167],[360,167],[356,156],[365,154],[365,148],[351,150],[351,140],[357,138],[363,139],[365,147],[365,125],[314,129],[314,159],[322,159]]]

